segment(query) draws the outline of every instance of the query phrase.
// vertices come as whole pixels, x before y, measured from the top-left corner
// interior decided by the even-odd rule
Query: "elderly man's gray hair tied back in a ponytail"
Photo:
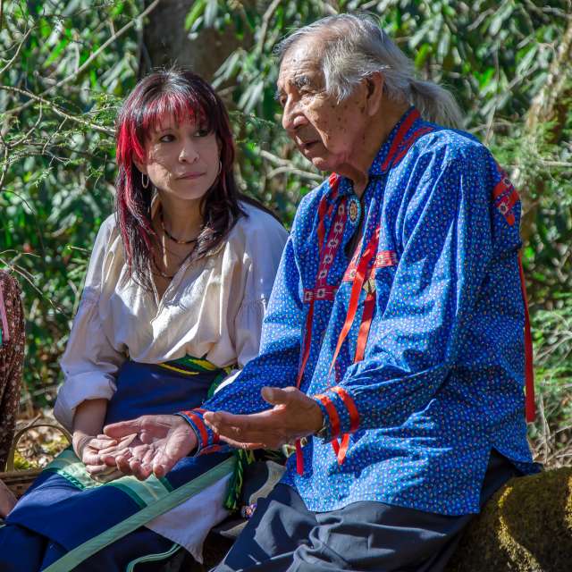
[[[367,14],[327,16],[295,30],[276,46],[282,58],[299,40],[320,35],[321,54],[327,93],[343,101],[359,82],[376,71],[383,74],[383,88],[392,101],[410,103],[430,121],[458,127],[461,111],[447,89],[433,81],[417,80],[413,62]]]

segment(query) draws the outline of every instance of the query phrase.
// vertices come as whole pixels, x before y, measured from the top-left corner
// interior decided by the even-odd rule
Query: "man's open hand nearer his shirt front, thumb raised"
[[[295,387],[265,387],[262,397],[274,407],[251,415],[207,411],[205,423],[221,441],[238,449],[279,449],[322,428],[321,409]]]

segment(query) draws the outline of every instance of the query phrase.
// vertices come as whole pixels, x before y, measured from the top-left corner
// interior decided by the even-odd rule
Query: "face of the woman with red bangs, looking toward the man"
[[[134,163],[156,189],[172,198],[202,198],[219,173],[214,131],[190,119],[177,123],[174,117],[165,117],[158,130],[148,134],[145,152],[144,163]]]

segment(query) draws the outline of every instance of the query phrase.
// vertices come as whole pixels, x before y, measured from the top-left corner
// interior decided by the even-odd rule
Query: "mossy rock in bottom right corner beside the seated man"
[[[447,572],[489,570],[572,570],[572,467],[511,479],[487,502]]]

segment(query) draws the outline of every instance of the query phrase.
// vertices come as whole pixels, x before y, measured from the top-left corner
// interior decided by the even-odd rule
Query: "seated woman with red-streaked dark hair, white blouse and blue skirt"
[[[233,158],[222,101],[189,71],[151,74],[123,105],[116,214],[97,235],[55,404],[73,452],[0,530],[2,570],[122,570],[180,545],[200,560],[226,516],[230,453],[183,459],[147,486],[105,466],[101,455],[126,443],[100,433],[189,399],[200,406],[257,355],[286,232],[239,195]]]

